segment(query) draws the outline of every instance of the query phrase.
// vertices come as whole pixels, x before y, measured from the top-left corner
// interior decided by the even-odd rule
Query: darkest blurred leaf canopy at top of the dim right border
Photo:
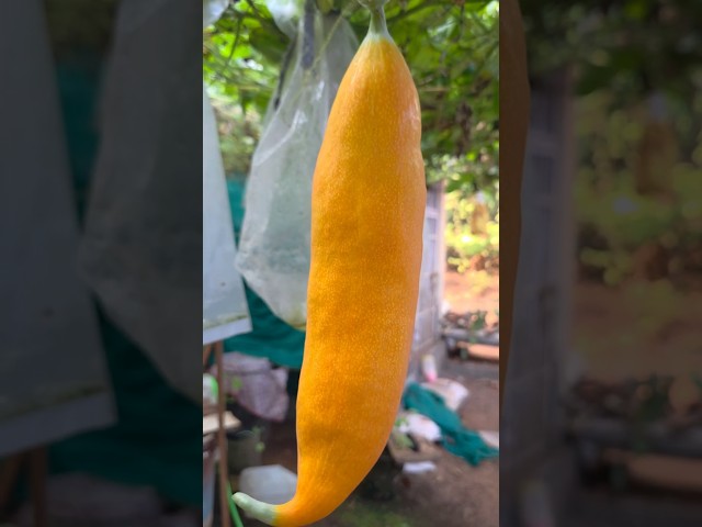
[[[607,88],[616,105],[660,90],[679,101],[702,86],[702,2],[523,0],[530,69],[575,64],[578,93]]]

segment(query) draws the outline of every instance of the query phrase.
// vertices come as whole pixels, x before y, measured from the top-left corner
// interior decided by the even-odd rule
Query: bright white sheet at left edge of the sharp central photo
[[[244,283],[234,261],[231,209],[214,110],[202,89],[202,312],[203,344],[251,330]]]

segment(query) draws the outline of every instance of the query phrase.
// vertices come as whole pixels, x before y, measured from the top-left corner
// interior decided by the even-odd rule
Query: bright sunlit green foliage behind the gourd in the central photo
[[[361,41],[369,13],[356,0],[317,1],[342,13]],[[499,154],[499,34],[496,0],[390,0],[387,24],[412,72],[422,108],[427,180],[446,181],[453,267],[495,267]],[[227,173],[246,175],[290,38],[263,0],[231,1],[205,31],[204,79],[219,122]],[[477,191],[490,203],[490,234],[471,232]]]

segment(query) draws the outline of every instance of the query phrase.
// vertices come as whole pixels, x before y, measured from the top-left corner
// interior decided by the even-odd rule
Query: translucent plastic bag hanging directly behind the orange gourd
[[[314,55],[304,16],[298,22],[292,69],[253,154],[237,257],[251,289],[298,329],[307,319],[312,178],[331,103],[358,47],[346,20],[315,12],[314,22]]]

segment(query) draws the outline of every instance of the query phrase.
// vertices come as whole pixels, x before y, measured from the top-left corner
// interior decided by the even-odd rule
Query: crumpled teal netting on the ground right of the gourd
[[[411,383],[405,390],[403,403],[407,410],[414,410],[439,425],[443,447],[472,466],[499,455],[499,450],[487,445],[478,434],[464,427],[461,417],[432,391]]]

